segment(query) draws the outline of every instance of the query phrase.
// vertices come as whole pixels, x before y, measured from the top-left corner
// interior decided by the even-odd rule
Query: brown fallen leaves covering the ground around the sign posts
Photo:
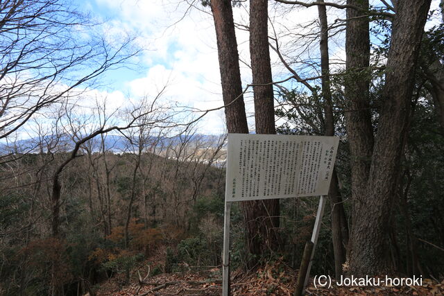
[[[221,270],[212,268],[201,272],[162,274],[152,277],[138,295],[221,295]],[[266,265],[255,272],[245,274],[240,270],[232,272],[231,292],[233,296],[291,296],[296,285],[297,272],[282,262]],[[119,290],[98,295],[133,296],[138,283]],[[312,282],[306,288],[306,295],[444,295],[444,280],[440,282],[423,279],[422,286],[337,286],[315,288]]]

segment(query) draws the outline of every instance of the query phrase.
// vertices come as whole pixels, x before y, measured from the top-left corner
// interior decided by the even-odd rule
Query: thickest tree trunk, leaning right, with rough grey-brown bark
[[[430,0],[398,3],[388,53],[383,106],[380,113],[366,198],[357,200],[350,271],[377,275],[390,269],[387,259],[391,200],[395,194],[400,155],[411,107],[416,61]]]

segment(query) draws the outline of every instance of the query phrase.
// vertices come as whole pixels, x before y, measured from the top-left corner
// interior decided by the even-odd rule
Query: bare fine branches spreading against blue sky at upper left
[[[138,52],[130,37],[94,33],[68,1],[1,1],[0,19],[0,139]]]

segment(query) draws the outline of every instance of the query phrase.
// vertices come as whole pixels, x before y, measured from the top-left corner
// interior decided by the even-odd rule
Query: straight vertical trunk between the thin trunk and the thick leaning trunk
[[[368,9],[368,0],[348,0],[348,5]],[[353,214],[364,211],[368,172],[373,152],[373,128],[370,119],[368,98],[370,64],[370,37],[368,17],[362,11],[347,9],[345,35],[346,70],[345,78],[345,128],[350,146],[350,166],[352,171]],[[353,216],[353,218],[355,218]],[[356,232],[352,227],[352,233]],[[355,241],[350,240],[349,250]],[[349,256],[350,254],[348,254]]]

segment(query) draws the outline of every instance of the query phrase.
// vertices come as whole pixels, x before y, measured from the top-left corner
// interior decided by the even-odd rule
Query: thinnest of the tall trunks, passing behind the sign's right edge
[[[323,2],[321,0],[320,2]],[[328,24],[325,6],[318,6],[319,24],[321,25],[319,47],[321,49],[321,73],[322,73],[322,96],[325,112],[325,136],[334,136],[334,116],[332,92],[330,89],[330,58],[328,54]],[[339,193],[338,176],[333,171],[330,182],[329,200],[332,209],[332,242],[334,250],[334,270],[336,279],[342,275],[342,264],[345,263],[345,245],[348,244],[348,236],[343,237],[343,229],[348,232],[348,225],[344,224],[345,212],[343,208],[341,193]]]

